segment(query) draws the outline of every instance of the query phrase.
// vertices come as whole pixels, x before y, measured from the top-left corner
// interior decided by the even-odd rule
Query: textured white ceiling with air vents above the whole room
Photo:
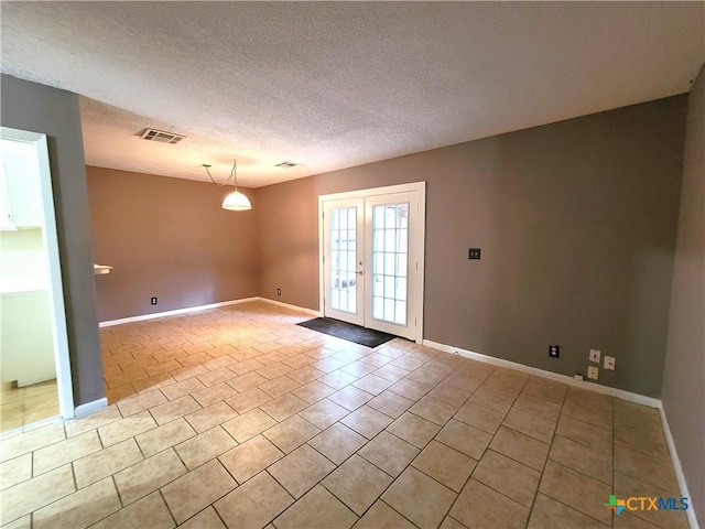
[[[85,96],[88,164],[206,180],[237,158],[252,187],[681,94],[705,62],[704,2],[1,10],[2,72]]]

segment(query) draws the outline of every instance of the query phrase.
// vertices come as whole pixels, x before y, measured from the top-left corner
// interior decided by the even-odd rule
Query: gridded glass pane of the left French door
[[[357,313],[357,207],[330,210],[330,307]]]

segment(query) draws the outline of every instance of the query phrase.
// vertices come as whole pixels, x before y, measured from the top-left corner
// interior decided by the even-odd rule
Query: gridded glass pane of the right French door
[[[406,325],[409,203],[372,207],[372,317]]]

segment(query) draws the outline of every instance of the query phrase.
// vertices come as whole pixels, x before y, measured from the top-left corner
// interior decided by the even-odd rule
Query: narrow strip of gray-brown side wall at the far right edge
[[[705,523],[705,67],[688,97],[683,188],[662,400]]]

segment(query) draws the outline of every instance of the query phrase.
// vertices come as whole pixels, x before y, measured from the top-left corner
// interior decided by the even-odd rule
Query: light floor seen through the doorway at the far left
[[[58,415],[56,379],[0,391],[0,432]]]

